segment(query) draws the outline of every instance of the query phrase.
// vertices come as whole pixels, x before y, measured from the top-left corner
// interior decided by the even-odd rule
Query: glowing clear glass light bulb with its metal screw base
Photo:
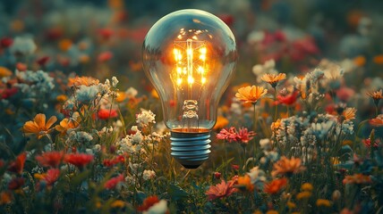
[[[162,103],[171,154],[187,169],[209,159],[210,130],[237,58],[232,31],[209,12],[172,12],[145,37],[143,69]]]

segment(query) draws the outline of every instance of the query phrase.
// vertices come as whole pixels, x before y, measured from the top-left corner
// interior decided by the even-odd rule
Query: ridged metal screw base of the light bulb
[[[210,132],[170,132],[172,156],[186,169],[197,169],[209,159]]]

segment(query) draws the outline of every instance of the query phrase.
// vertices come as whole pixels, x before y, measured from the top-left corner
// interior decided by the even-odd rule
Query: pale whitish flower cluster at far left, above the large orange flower
[[[19,87],[22,93],[28,93],[32,97],[40,95],[40,93],[48,93],[55,87],[54,78],[49,77],[48,73],[43,70],[22,72],[16,70],[16,77],[20,78],[23,83],[17,83],[15,86]]]

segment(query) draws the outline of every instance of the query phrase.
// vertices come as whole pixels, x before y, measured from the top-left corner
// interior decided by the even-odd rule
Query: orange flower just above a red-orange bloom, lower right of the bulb
[[[276,177],[277,175],[291,176],[292,174],[301,172],[304,169],[305,168],[301,166],[301,159],[292,158],[289,160],[284,156],[274,164],[274,170],[271,172],[271,175],[273,177]]]

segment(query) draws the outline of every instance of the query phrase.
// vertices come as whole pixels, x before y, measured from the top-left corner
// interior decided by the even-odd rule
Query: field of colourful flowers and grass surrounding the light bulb
[[[383,4],[182,2],[0,3],[0,213],[383,213]],[[198,169],[140,61],[187,7],[240,55]]]

